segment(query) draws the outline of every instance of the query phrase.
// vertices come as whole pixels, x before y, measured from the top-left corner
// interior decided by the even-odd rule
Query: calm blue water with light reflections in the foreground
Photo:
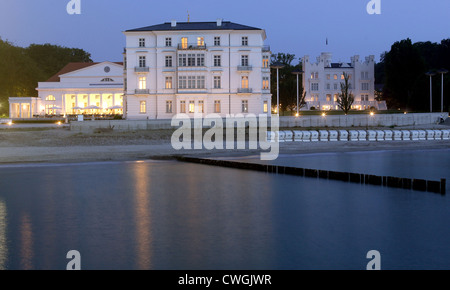
[[[434,156],[449,174],[448,150],[391,153],[277,162]],[[373,249],[383,269],[450,269],[449,245],[448,195],[174,161],[0,167],[2,269],[65,269],[69,250],[82,269],[365,269]]]

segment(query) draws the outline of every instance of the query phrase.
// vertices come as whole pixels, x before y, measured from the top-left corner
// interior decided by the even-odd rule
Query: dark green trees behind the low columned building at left
[[[31,44],[23,48],[0,38],[0,115],[7,115],[9,97],[37,97],[38,82],[45,81],[69,62],[92,62],[79,48]]]

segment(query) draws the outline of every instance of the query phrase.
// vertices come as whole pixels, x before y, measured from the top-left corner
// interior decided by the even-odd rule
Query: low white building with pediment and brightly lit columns
[[[47,81],[39,82],[36,90],[37,98],[9,98],[10,118],[122,114],[123,65],[69,63]]]

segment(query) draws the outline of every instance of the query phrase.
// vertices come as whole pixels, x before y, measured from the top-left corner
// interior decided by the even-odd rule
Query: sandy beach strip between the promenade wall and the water
[[[430,125],[396,129],[447,128]],[[84,134],[62,127],[1,128],[0,164],[145,160],[171,155],[248,156],[260,153],[260,150],[248,149],[177,151],[171,146],[172,133],[173,130],[152,130]],[[450,141],[287,142],[280,143],[280,154],[445,148],[450,148]]]

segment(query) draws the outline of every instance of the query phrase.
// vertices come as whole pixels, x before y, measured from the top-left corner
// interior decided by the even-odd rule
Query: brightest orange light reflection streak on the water
[[[147,192],[150,185],[148,164],[136,164],[133,166],[135,184],[135,219],[136,219],[136,263],[138,269],[151,268],[151,208],[150,192]]]

